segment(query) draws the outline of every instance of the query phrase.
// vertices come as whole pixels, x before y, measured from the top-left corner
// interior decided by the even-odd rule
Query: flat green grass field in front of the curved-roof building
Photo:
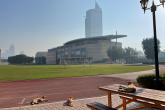
[[[0,81],[116,74],[152,69],[131,65],[0,65]]]

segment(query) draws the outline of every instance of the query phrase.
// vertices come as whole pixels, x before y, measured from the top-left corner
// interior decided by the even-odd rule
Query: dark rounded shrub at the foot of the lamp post
[[[159,87],[156,87],[155,75],[142,75],[137,78],[137,82],[139,85],[145,88],[150,89],[160,89],[165,90],[165,74],[160,76],[160,84]]]

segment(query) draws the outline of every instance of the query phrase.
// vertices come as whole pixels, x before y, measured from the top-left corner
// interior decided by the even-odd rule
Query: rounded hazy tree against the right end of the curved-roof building
[[[113,46],[108,49],[107,54],[112,61],[120,60],[122,58],[123,49],[121,47]]]

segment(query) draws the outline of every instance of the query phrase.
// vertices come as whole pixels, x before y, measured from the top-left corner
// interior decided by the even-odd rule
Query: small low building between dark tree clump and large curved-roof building
[[[47,52],[37,52],[35,55],[36,64],[46,64]]]

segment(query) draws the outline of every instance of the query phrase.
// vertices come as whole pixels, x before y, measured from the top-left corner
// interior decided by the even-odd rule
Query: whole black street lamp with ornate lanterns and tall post
[[[157,34],[156,34],[156,16],[155,12],[158,6],[163,6],[165,0],[159,0],[160,4],[155,5],[154,0],[152,2],[152,6],[150,8],[147,7],[149,0],[141,0],[141,6],[142,9],[144,10],[144,13],[146,10],[151,10],[152,15],[153,15],[153,31],[154,31],[154,52],[155,52],[155,73],[156,73],[156,87],[159,89],[160,87],[160,76],[159,76],[159,60],[158,60],[158,45],[157,45]]]

